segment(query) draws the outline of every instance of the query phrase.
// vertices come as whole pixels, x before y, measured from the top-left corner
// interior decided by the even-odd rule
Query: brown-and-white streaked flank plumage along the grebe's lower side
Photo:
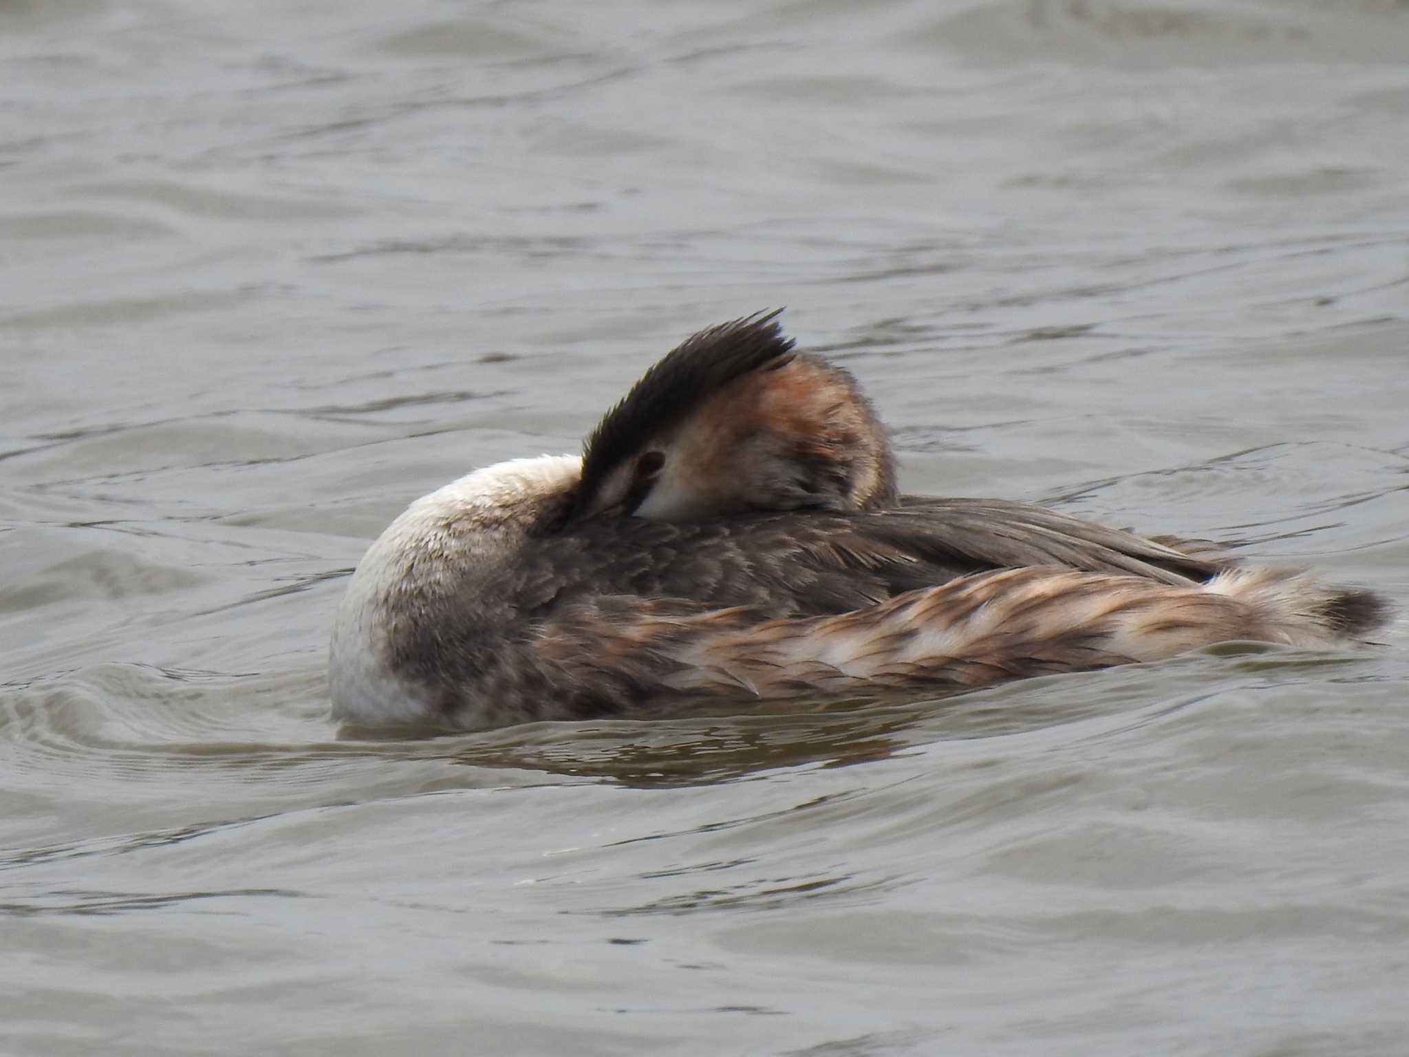
[[[631,702],[672,693],[781,700],[951,692],[1158,661],[1236,638],[1324,645],[1367,633],[1384,610],[1367,592],[1326,589],[1289,569],[1234,569],[1174,586],[1022,568],[836,616],[759,620],[748,607],[682,616],[650,606],[599,623],[604,616],[568,613],[533,644],[557,693],[579,702],[576,715],[628,712]]]

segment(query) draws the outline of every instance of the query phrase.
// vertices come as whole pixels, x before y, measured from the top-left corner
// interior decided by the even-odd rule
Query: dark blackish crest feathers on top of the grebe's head
[[[692,334],[658,359],[621,402],[602,416],[582,448],[581,510],[623,459],[735,378],[776,369],[793,358],[778,324],[782,309],[754,313]],[[571,516],[571,514],[569,514]]]

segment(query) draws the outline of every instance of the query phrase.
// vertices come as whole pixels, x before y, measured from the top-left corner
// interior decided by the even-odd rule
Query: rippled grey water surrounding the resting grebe
[[[1409,633],[328,717],[411,499],[788,306],[909,490],[1409,607],[1409,6],[0,0],[0,1051],[1409,1051]]]

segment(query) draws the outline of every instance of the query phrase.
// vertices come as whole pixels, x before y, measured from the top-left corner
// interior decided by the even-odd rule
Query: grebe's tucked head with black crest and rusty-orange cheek
[[[588,437],[569,517],[893,506],[871,403],[850,373],[796,352],[776,319],[703,330],[651,366]]]

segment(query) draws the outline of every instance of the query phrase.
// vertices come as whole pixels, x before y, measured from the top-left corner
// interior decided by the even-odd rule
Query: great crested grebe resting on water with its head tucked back
[[[411,503],[338,609],[334,715],[476,730],[941,693],[1230,638],[1326,644],[1386,614],[1208,544],[900,495],[855,381],[795,351],[776,314],[686,340],[581,457]]]

